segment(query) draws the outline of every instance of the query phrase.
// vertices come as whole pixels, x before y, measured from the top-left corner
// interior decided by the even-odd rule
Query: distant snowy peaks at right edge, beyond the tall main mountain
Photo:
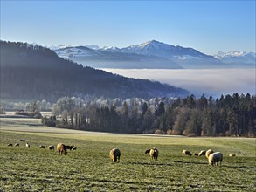
[[[225,53],[219,51],[214,57],[218,58],[223,63],[236,68],[255,67],[256,63],[255,52],[230,51]]]

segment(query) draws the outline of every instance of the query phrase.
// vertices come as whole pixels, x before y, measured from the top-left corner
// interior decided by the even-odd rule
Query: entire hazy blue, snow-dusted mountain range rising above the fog
[[[229,55],[219,52],[210,56],[192,48],[168,45],[156,40],[125,48],[62,45],[53,50],[59,57],[95,68],[211,69],[255,66],[255,53]]]

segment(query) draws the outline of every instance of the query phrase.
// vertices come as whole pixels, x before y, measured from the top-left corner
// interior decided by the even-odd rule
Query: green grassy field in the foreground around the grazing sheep
[[[255,138],[104,134],[43,127],[40,120],[0,120],[0,191],[256,191]],[[39,148],[59,142],[77,150],[61,156]],[[121,149],[120,163],[109,159],[114,147]],[[144,154],[150,147],[159,149],[158,161]],[[209,148],[224,154],[221,167],[182,155],[183,149]]]

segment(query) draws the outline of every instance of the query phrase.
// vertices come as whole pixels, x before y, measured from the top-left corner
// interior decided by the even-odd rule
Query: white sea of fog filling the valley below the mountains
[[[200,96],[256,92],[256,69],[101,69],[129,78],[156,80]]]

